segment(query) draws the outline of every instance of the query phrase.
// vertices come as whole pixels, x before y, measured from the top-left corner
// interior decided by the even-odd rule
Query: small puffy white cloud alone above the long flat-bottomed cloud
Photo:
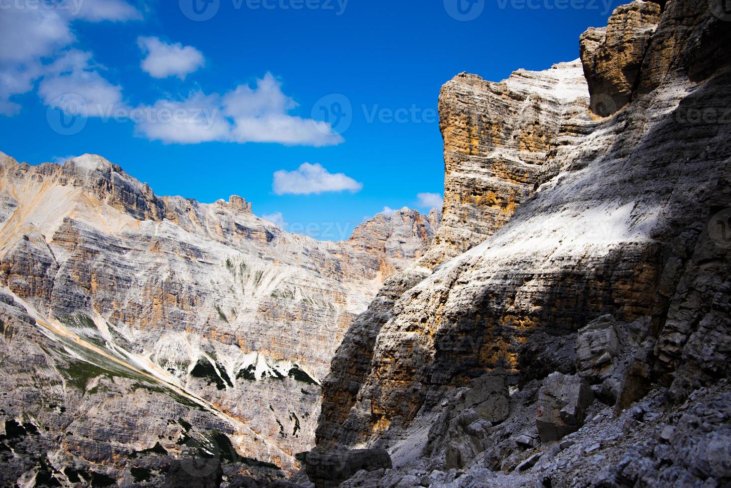
[[[181,43],[167,44],[159,37],[140,37],[137,44],[147,56],[142,69],[154,78],[177,76],[181,80],[205,65],[202,53],[192,46]]]

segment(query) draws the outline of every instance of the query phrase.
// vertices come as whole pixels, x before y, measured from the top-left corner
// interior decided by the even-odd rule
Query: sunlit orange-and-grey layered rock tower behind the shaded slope
[[[501,83],[462,73],[442,87],[443,223],[428,262],[482,243],[510,220],[544,165],[586,119],[586,80],[577,61],[521,69]]]

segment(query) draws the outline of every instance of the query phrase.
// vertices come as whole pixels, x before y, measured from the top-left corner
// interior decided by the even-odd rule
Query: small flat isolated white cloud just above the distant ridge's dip
[[[303,163],[295,171],[281,169],[274,173],[272,189],[278,195],[321,194],[325,191],[360,191],[363,183],[337,173],[333,175],[320,164]]]

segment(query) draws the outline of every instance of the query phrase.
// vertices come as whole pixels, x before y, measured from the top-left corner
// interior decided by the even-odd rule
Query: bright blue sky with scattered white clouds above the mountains
[[[295,231],[348,237],[384,207],[438,203],[444,82],[575,59],[618,5],[205,1],[0,0],[0,150],[99,153],[157,194],[239,194]]]

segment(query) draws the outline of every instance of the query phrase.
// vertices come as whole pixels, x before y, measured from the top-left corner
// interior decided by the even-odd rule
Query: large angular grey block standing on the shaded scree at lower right
[[[558,441],[584,423],[594,393],[585,379],[553,373],[538,394],[536,427],[542,442]]]

